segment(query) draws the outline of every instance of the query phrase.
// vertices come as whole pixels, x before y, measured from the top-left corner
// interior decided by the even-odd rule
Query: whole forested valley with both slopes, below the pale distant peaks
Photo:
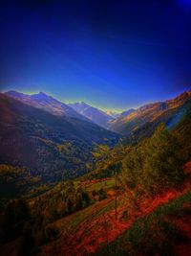
[[[127,113],[141,130],[131,136],[53,113],[45,94],[37,106],[0,99],[3,256],[186,255],[190,92],[165,111],[156,104]]]

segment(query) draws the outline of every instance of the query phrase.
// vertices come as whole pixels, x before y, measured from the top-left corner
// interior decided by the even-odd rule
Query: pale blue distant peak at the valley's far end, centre
[[[114,119],[111,115],[106,114],[104,111],[83,102],[69,104],[69,106],[73,107],[76,112],[103,128],[108,128],[109,122]]]

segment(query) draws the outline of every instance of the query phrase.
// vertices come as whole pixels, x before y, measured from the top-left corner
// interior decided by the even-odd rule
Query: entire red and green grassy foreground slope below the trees
[[[77,186],[79,181],[75,183],[74,185]],[[105,190],[108,197],[68,217],[48,224],[46,229],[54,230],[55,235],[50,237],[47,244],[41,245],[34,255],[134,256],[140,255],[139,249],[142,252],[141,255],[155,255],[152,252],[156,249],[163,253],[159,255],[171,255],[174,244],[182,241],[183,236],[180,233],[179,224],[183,223],[186,229],[186,222],[190,218],[190,182],[187,182],[181,191],[169,191],[158,198],[142,196],[137,209],[130,203],[127,193],[118,191],[117,221],[115,196],[110,194],[111,191],[114,192],[114,179],[96,182],[93,180],[92,183],[87,181],[83,185],[89,193],[107,188]],[[182,219],[177,220],[179,217]],[[173,221],[177,221],[176,225]],[[151,240],[154,234],[155,237]],[[185,250],[186,242],[182,241],[182,243],[184,244],[178,244],[176,248],[180,253]],[[19,247],[19,241],[13,241],[4,244],[1,249],[4,252],[3,255],[12,256],[17,255],[15,254],[17,247]],[[142,251],[143,247],[144,251]]]

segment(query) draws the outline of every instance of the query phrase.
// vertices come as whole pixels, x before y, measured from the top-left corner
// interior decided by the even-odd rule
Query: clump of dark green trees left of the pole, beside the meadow
[[[91,198],[80,183],[66,181],[33,201],[34,214],[41,214],[51,222],[89,206]]]

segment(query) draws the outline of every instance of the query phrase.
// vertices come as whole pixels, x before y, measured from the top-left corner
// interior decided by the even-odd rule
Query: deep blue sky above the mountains
[[[127,109],[174,97],[190,84],[189,0],[0,4],[3,91]]]

